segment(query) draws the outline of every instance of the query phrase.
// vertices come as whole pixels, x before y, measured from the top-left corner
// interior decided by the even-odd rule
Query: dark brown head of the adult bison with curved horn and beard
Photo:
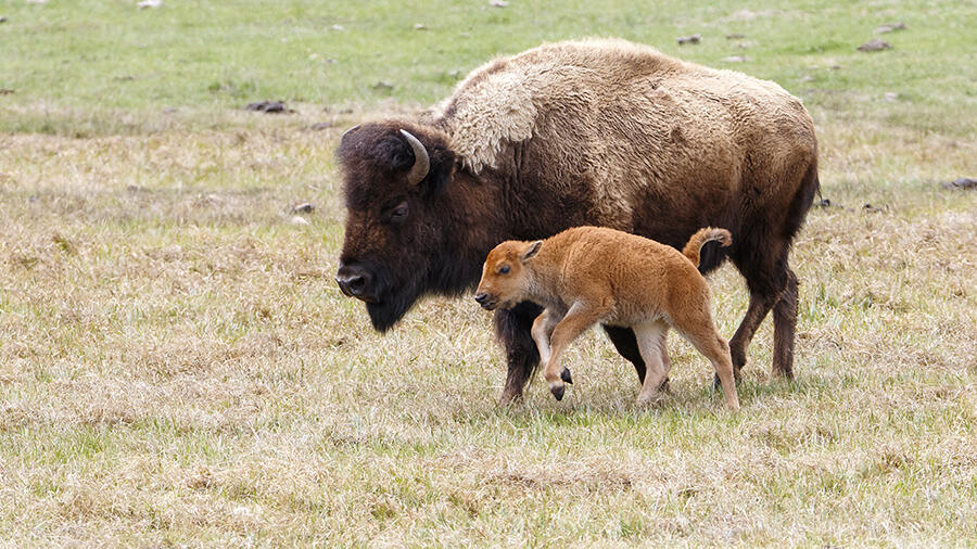
[[[384,122],[346,131],[338,155],[348,216],[335,281],[386,331],[418,297],[443,290],[455,154],[433,128]]]

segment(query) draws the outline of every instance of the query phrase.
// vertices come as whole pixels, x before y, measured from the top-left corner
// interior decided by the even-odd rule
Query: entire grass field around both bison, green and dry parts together
[[[977,177],[974,1],[407,4],[0,4],[0,541],[977,545],[977,191],[940,186]],[[381,336],[332,280],[343,129],[587,35],[814,116],[797,380],[767,320],[737,416],[675,336],[636,409],[597,331],[562,403],[498,407],[488,314],[429,299]],[[728,336],[744,284],[711,288]]]

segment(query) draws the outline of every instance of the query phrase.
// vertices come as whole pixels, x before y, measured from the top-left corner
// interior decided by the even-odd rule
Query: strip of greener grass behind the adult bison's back
[[[622,8],[607,0],[513,2],[505,9],[480,1],[168,2],[148,10],[134,3],[7,5],[0,86],[14,93],[0,95],[0,130],[102,135],[226,127],[221,111],[263,99],[282,99],[312,114],[390,101],[427,105],[494,55],[583,36],[620,36],[743,69],[857,119],[963,136],[969,128],[960,120],[977,117],[977,67],[970,62],[977,38],[967,26],[977,9],[968,0],[926,9],[899,1],[789,8],[765,1],[749,9],[705,1]],[[891,21],[908,25],[883,36],[894,50],[855,50]],[[700,44],[676,43],[693,33],[703,36]],[[726,39],[731,34],[746,37]],[[729,55],[747,60],[722,61]],[[885,92],[898,93],[896,101],[885,101]]]

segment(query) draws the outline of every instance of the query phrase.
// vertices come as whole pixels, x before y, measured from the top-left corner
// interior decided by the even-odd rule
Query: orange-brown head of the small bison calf
[[[542,240],[509,240],[488,253],[474,297],[483,309],[510,309],[526,301],[533,277],[530,259],[540,252],[542,245]]]

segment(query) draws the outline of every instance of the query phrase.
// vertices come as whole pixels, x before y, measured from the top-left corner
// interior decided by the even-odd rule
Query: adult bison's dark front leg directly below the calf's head
[[[524,302],[511,309],[498,309],[495,312],[495,332],[506,348],[508,365],[500,404],[522,399],[522,390],[540,365],[540,353],[531,331],[533,320],[542,311],[543,308],[538,305]]]

